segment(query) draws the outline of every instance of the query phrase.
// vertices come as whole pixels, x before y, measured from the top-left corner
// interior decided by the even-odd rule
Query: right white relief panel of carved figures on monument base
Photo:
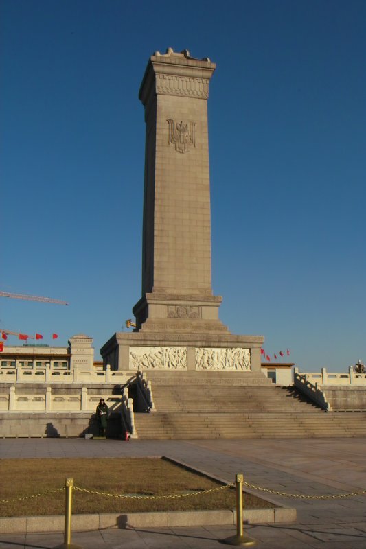
[[[196,370],[250,370],[251,354],[249,349],[228,347],[196,348]]]

